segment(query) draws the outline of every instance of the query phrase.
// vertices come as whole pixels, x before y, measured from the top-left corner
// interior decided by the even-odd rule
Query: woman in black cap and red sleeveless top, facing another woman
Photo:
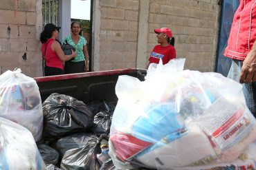
[[[40,35],[42,55],[46,61],[44,66],[45,76],[64,74],[64,61],[76,56],[73,51],[71,55],[64,54],[60,43],[57,41],[59,30],[60,27],[55,26],[53,23],[47,23]]]

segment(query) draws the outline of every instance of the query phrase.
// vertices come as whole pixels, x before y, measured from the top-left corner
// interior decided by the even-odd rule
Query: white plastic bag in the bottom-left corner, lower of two
[[[30,131],[4,118],[0,118],[0,169],[45,169]]]

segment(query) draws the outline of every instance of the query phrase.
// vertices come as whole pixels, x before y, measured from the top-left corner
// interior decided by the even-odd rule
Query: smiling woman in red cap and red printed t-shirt
[[[149,57],[150,63],[159,63],[160,59],[163,61],[163,65],[168,63],[171,59],[176,58],[176,50],[174,48],[174,37],[172,37],[172,31],[169,28],[155,29],[157,42],[160,45],[156,45],[152,50]]]

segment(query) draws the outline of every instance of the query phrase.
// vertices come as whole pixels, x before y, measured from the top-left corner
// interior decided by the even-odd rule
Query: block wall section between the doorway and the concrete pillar
[[[139,0],[100,1],[100,70],[135,67],[138,6]]]

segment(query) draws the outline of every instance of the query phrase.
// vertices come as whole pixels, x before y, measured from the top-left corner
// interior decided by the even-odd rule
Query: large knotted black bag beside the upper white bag
[[[93,114],[80,100],[53,93],[43,103],[44,131],[47,140],[61,138],[93,127]]]

